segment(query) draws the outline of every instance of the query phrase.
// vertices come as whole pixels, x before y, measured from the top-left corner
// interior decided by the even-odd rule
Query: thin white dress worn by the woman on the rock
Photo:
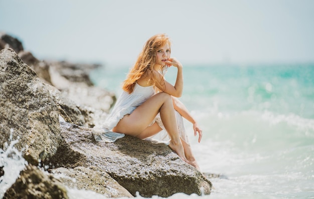
[[[118,124],[118,122],[120,121],[120,119],[124,117],[124,115],[131,114],[136,107],[141,105],[144,101],[149,99],[154,94],[155,91],[153,89],[153,86],[143,87],[137,83],[135,83],[133,92],[131,94],[123,91],[120,97],[118,98],[116,104],[114,105],[112,112],[108,115],[105,122],[101,126],[94,126],[94,128],[92,129],[92,133],[94,135],[95,140],[103,142],[114,142],[116,139],[123,137],[124,134],[122,133],[112,132],[111,131],[112,128]],[[183,118],[177,111],[176,118],[181,138],[185,140],[187,143],[189,143],[183,125]],[[158,114],[154,118],[151,124],[153,124],[154,122],[158,123],[158,125],[163,129],[163,131],[150,137],[149,140],[168,141],[170,138],[162,123],[160,114]]]

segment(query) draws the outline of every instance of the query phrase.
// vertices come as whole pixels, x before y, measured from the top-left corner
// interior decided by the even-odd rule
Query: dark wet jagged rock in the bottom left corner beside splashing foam
[[[21,171],[20,177],[7,190],[4,199],[9,198],[68,198],[65,186],[39,170],[36,166],[28,165]]]

